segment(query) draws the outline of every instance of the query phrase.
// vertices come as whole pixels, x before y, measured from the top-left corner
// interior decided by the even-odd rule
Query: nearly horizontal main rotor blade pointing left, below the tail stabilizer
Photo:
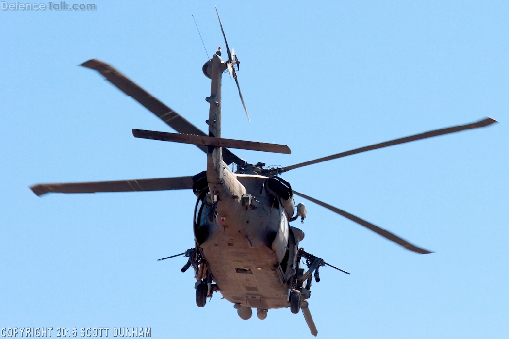
[[[138,179],[120,181],[74,182],[63,184],[39,184],[30,189],[41,196],[46,193],[96,193],[96,192],[131,192],[131,191],[164,191],[170,189],[191,189],[192,176]]]

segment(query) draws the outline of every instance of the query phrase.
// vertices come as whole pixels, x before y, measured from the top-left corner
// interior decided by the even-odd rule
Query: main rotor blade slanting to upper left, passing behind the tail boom
[[[169,127],[173,128],[179,133],[185,134],[196,134],[196,135],[207,135],[199,128],[182,118],[177,112],[169,108],[161,101],[157,100],[150,93],[139,87],[131,79],[127,78],[124,74],[117,71],[110,65],[96,60],[91,59],[82,63],[80,66],[87,67],[98,71],[106,80],[114,84],[119,90],[132,97],[134,100],[144,105],[148,110],[155,114],[159,119],[164,121]],[[207,153],[207,148],[198,146],[202,151]],[[244,164],[244,160],[230,152],[229,150],[223,150],[223,160],[227,164],[235,162],[236,164]]]

